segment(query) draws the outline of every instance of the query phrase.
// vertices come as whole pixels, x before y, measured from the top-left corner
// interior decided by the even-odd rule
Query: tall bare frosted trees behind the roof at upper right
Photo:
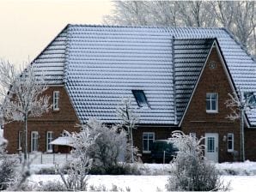
[[[256,56],[254,1],[113,1],[107,24],[125,26],[226,27]]]

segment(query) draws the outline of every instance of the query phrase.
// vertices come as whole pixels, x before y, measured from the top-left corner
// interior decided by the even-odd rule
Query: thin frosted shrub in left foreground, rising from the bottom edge
[[[94,144],[97,135],[92,135],[88,126],[81,126],[80,132],[65,132],[70,138],[73,150],[72,161],[68,163],[68,169],[64,170],[57,166],[58,174],[61,176],[67,190],[86,190],[88,184],[88,171],[92,166],[89,157],[89,148]],[[67,171],[67,177],[64,176]]]

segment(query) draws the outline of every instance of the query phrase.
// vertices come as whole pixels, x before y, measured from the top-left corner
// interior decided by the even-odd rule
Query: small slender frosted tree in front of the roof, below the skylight
[[[134,153],[137,151],[136,147],[133,145],[133,135],[132,131],[133,129],[137,129],[137,123],[139,122],[139,118],[135,114],[135,112],[132,109],[131,106],[131,99],[123,99],[121,103],[118,105],[117,108],[117,115],[119,119],[121,120],[120,127],[124,128],[127,137],[128,137],[128,152],[131,153],[130,157],[130,162],[134,162]]]

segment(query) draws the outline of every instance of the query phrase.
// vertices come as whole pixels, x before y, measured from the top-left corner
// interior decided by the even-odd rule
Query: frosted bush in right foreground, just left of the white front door
[[[226,189],[214,164],[204,159],[204,146],[200,139],[174,131],[174,145],[179,148],[173,159],[173,175],[168,179],[168,190],[209,191]]]

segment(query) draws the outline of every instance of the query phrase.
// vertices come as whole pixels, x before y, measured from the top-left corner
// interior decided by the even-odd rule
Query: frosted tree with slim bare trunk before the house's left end
[[[45,94],[46,79],[42,71],[34,64],[30,64],[21,73],[15,67],[5,61],[0,62],[0,81],[2,91],[8,90],[3,99],[4,121],[20,121],[23,127],[23,152],[27,159],[27,119],[29,117],[40,117],[49,111],[50,96]],[[3,93],[4,94],[4,93]]]

